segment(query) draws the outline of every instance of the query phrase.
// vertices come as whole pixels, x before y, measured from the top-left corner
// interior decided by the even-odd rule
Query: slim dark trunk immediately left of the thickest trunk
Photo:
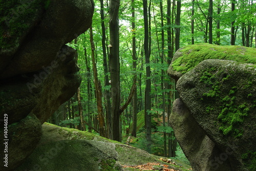
[[[100,0],[100,19],[101,19],[101,30],[102,30],[102,53],[103,53],[103,67],[104,67],[104,74],[105,74],[105,86],[109,86],[109,68],[108,68],[108,56],[106,54],[106,29],[105,29],[105,22],[104,22],[104,4],[103,0]],[[105,108],[106,108],[106,137],[111,138],[111,102],[110,102],[110,91],[109,89],[105,89]]]

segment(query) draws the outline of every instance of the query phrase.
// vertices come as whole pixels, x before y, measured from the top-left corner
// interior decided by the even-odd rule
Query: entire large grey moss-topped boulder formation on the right
[[[232,56],[231,52],[221,51],[221,46],[214,45],[215,50],[212,45],[202,46],[185,47],[186,53],[181,49],[169,67],[169,74],[178,80],[180,95],[174,103],[170,124],[193,170],[255,170],[256,50],[224,46],[226,51],[237,49]],[[203,57],[200,48],[214,52]],[[218,54],[216,49],[220,54],[229,53],[227,59],[252,64],[218,59],[214,55]],[[243,53],[239,52],[241,56],[237,54],[236,58],[239,49]],[[198,54],[202,62],[188,62],[196,60]],[[214,56],[217,59],[204,60]],[[177,59],[184,63],[173,65]]]

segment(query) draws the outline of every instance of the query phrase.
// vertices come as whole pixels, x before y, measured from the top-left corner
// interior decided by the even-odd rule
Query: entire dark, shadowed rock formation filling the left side
[[[13,170],[35,149],[44,123],[74,95],[81,78],[65,45],[92,23],[91,0],[10,0],[0,5],[0,119]],[[2,126],[5,126],[3,129]]]

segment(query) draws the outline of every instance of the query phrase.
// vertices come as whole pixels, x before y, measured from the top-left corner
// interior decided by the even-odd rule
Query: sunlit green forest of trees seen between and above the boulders
[[[67,44],[81,85],[48,121],[179,156],[167,121],[178,97],[167,76],[174,53],[195,43],[256,48],[255,37],[252,0],[95,1],[92,27]]]

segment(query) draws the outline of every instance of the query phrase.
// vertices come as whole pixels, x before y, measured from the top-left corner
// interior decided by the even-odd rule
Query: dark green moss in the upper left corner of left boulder
[[[49,1],[46,1],[49,2]],[[19,45],[19,41],[36,25],[37,12],[47,6],[45,0],[10,0],[0,3],[0,47],[9,51]]]

